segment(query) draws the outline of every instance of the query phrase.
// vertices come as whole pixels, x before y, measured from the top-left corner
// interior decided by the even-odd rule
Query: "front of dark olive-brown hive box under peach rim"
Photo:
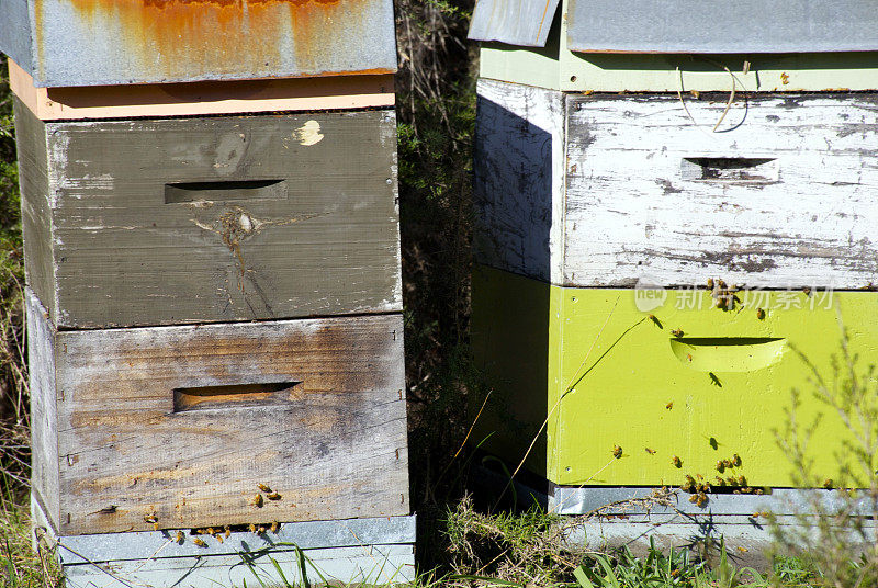
[[[30,238],[52,235],[55,283],[32,285],[57,299],[60,327],[401,310],[392,111],[46,123],[44,134],[52,223]],[[246,181],[279,182],[282,196],[212,190]],[[192,197],[166,200],[180,183]],[[27,260],[32,275],[42,259]]]

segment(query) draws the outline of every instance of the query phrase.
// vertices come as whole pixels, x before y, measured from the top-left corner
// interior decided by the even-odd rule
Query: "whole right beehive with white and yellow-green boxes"
[[[528,455],[561,512],[700,474],[722,496],[698,512],[751,514],[731,493],[795,485],[772,432],[791,389],[802,419],[829,410],[799,353],[833,381],[838,313],[851,350],[878,352],[878,98],[847,91],[878,88],[874,12],[848,2],[847,35],[837,7],[787,7],[775,34],[739,13],[763,2],[703,4],[475,10],[473,340],[495,391],[477,440]],[[845,434],[815,433],[828,478]]]

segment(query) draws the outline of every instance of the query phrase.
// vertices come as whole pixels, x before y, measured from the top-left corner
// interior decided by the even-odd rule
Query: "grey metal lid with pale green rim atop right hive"
[[[868,0],[777,4],[480,0],[470,37],[481,77],[564,91],[878,88]]]

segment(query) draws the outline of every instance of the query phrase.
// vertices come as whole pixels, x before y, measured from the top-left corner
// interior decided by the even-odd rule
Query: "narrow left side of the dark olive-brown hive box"
[[[48,191],[48,156],[45,125],[14,95],[15,144],[21,190],[25,281],[55,313],[55,268],[52,261],[52,199]]]

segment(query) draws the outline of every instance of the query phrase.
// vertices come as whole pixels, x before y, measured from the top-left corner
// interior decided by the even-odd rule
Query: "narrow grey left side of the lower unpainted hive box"
[[[25,296],[27,361],[31,386],[31,491],[42,510],[60,513],[58,411],[55,402],[55,337],[46,310],[33,294]]]

